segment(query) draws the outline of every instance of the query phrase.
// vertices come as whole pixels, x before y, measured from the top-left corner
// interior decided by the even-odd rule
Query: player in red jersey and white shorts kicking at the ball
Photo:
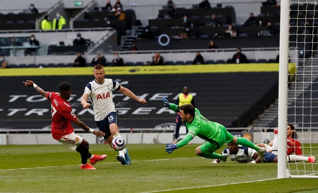
[[[87,163],[89,159],[90,164],[94,165],[96,162],[104,160],[107,155],[92,155],[89,153],[89,143],[79,135],[74,133],[70,121],[74,122],[80,128],[93,133],[96,136],[104,136],[105,133],[100,130],[94,130],[87,127],[79,118],[74,114],[68,99],[70,99],[72,88],[71,84],[62,82],[59,85],[60,92],[44,91],[31,80],[23,82],[25,86],[33,86],[42,96],[51,101],[52,107],[52,136],[57,141],[68,146],[72,150],[80,153],[82,170],[96,170],[93,166]]]

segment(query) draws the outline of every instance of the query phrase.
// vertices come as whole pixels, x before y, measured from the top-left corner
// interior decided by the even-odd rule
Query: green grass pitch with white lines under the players
[[[228,160],[209,164],[213,160],[195,155],[197,146],[188,144],[167,154],[164,144],[128,144],[133,162],[122,166],[109,145],[93,144],[90,152],[107,154],[107,158],[94,165],[97,170],[82,171],[79,153],[64,145],[3,145],[0,192],[318,192],[318,179],[276,179],[275,163],[240,164]],[[317,171],[318,165],[314,167]]]

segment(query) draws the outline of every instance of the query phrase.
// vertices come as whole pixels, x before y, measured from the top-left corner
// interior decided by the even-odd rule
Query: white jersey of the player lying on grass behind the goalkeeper
[[[252,148],[239,145],[239,151],[237,154],[231,154],[229,148],[225,148],[222,151],[222,154],[226,153],[229,155],[232,161],[237,161],[239,163],[247,163],[254,160],[252,156],[254,155],[254,153],[257,152]]]

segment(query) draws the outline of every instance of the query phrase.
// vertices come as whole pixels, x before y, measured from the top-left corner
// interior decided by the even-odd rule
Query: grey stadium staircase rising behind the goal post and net
[[[317,57],[315,57],[317,58]],[[307,59],[306,61],[300,61],[299,64],[305,64],[304,67],[298,67],[298,72],[296,76],[296,82],[299,82],[295,86],[292,84],[289,91],[288,91],[288,104],[291,104],[294,98],[299,98],[303,95],[303,90],[308,89],[312,84],[312,81],[318,78],[318,68],[311,68],[308,67],[310,65],[318,66],[317,60]],[[305,76],[304,74],[313,74],[312,77]],[[303,85],[302,82],[305,82]],[[278,124],[278,99],[272,103],[268,109],[264,110],[264,112],[259,115],[254,123],[250,126],[253,128],[261,128],[261,127],[270,127],[275,128]]]

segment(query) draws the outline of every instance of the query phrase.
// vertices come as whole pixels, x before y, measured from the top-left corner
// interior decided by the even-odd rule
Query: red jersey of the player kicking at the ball
[[[74,132],[70,121],[75,121],[77,116],[74,114],[68,101],[63,100],[58,92],[48,92],[46,98],[51,101],[52,107],[52,136],[59,140],[63,135]]]

